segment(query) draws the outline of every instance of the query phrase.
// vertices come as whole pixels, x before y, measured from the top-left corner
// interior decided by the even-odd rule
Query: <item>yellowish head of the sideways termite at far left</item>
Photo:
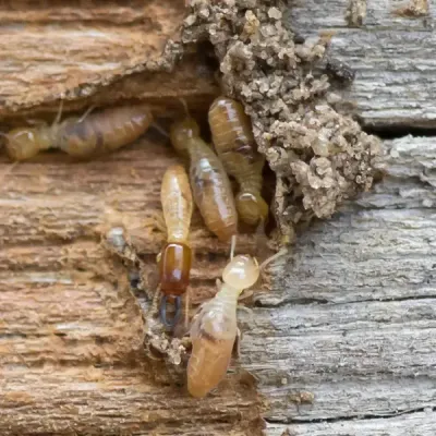
[[[51,146],[47,128],[14,129],[5,134],[4,137],[8,155],[13,160],[31,159],[40,150],[50,148]]]

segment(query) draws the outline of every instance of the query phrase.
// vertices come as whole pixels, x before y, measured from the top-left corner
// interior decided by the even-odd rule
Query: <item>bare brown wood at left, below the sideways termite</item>
[[[13,166],[3,157],[1,434],[261,433],[263,400],[242,368],[233,370],[219,395],[198,401],[161,361],[146,359],[128,270],[101,244],[112,226],[136,230],[146,241],[144,262],[155,268],[165,238],[160,182],[175,161],[156,137],[87,164],[46,154]],[[192,240],[198,304],[216,291],[228,246],[216,242],[198,215]],[[252,245],[241,239],[241,250]]]

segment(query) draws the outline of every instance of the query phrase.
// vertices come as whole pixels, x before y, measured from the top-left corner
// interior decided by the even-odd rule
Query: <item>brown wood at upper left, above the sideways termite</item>
[[[60,99],[64,111],[132,99],[159,116],[180,111],[179,97],[207,107],[218,92],[210,68],[193,52],[172,72],[177,49],[165,51],[184,15],[170,0],[2,2],[0,117],[52,120]]]

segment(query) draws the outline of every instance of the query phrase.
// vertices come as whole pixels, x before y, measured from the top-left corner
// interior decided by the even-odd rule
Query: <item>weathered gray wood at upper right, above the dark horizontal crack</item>
[[[366,11],[362,25],[350,24],[350,3]],[[404,5],[425,0],[290,0],[287,20],[302,36],[332,35],[328,55],[347,62],[355,80],[341,94],[362,122],[388,125],[436,125],[435,8],[404,16]],[[356,8],[355,8],[356,9]],[[359,8],[358,8],[359,9]],[[425,10],[425,8],[423,7]]]

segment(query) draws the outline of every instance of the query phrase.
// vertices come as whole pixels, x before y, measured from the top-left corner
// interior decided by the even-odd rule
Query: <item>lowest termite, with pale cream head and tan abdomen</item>
[[[187,363],[187,390],[193,397],[205,397],[226,376],[238,331],[238,298],[258,277],[259,266],[255,258],[234,256],[222,272],[220,290],[195,317]]]

